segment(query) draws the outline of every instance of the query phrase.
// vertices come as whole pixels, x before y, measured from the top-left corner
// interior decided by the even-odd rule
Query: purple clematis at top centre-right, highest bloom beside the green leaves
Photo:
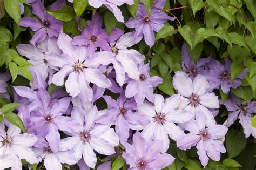
[[[164,8],[165,0],[156,0],[154,6],[158,8]],[[158,32],[164,27],[164,22],[175,18],[166,15],[156,8],[151,8],[151,15],[147,14],[145,5],[139,4],[139,8],[136,12],[137,19],[130,18],[125,23],[128,28],[135,28],[134,39],[137,39],[140,35],[144,35],[144,39],[147,45],[152,47],[154,45],[154,31]]]

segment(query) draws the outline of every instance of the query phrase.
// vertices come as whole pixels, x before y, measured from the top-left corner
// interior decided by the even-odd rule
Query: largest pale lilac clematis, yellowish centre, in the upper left
[[[71,40],[68,35],[60,33],[58,46],[63,51],[63,55],[56,52],[46,53],[48,62],[53,66],[60,67],[60,70],[52,77],[52,81],[55,85],[62,86],[64,78],[68,76],[65,87],[70,96],[79,96],[85,103],[90,103],[93,92],[89,83],[102,88],[111,86],[111,81],[104,76],[98,67],[110,64],[113,55],[107,51],[97,52],[95,57],[89,59],[87,47],[72,45]]]

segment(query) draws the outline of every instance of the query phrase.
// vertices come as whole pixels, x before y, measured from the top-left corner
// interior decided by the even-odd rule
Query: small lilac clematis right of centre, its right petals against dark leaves
[[[126,86],[125,96],[131,98],[134,96],[138,106],[143,104],[145,97],[147,100],[154,102],[153,87],[163,83],[163,79],[158,76],[150,77],[149,63],[144,63],[138,66],[139,76],[136,79],[131,79]]]

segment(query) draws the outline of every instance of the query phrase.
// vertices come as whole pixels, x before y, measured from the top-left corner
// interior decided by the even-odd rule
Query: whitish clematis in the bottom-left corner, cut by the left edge
[[[6,133],[4,124],[0,124],[0,162],[6,160],[0,167],[22,169],[21,159],[25,159],[30,164],[37,163],[36,156],[29,147],[35,144],[38,138],[33,134],[20,133],[21,130],[12,124],[9,125]]]

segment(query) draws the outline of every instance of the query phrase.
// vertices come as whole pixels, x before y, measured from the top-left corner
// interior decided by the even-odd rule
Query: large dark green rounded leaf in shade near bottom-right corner
[[[247,143],[245,134],[234,129],[228,130],[225,141],[228,158],[234,158],[241,153]]]

